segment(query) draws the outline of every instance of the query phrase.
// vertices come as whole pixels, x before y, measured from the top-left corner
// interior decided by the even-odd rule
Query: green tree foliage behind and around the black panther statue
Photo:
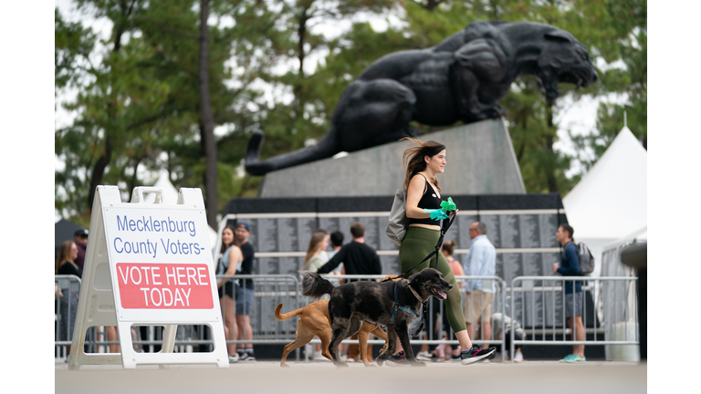
[[[55,23],[56,94],[77,88],[64,107],[76,114],[55,132],[56,208],[86,223],[95,182],[118,184],[124,199],[165,168],[173,185],[204,189],[198,89],[199,1],[76,0],[112,24],[109,40]],[[376,31],[352,19],[392,13],[399,25]],[[266,132],[261,157],[297,150],[330,128],[340,94],[388,53],[431,47],[478,19],[536,21],[570,31],[602,67],[589,88],[560,86],[561,97],[603,100],[591,135],[570,137],[574,157],[555,150],[561,109],[534,78],[518,78],[501,105],[528,192],[569,192],[574,161],[585,168],[623,127],[646,145],[647,5],[643,0],[213,0],[209,19],[209,88],[217,146],[220,211],[236,196],[255,196],[260,177],[242,170],[252,130]],[[355,20],[338,37],[314,26]],[[318,64],[310,64],[320,59]],[[623,102],[623,104],[616,104]],[[416,124],[426,131],[438,130]],[[94,191],[93,191],[94,192]]]

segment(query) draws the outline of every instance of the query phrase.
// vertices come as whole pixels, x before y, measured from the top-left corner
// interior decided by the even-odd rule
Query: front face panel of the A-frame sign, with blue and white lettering
[[[145,204],[143,204],[145,205]],[[105,208],[119,320],[197,322],[221,311],[204,210]]]

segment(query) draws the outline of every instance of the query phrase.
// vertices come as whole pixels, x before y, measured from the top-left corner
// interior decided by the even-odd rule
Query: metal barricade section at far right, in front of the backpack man
[[[515,277],[511,281],[509,309],[514,320],[523,322],[522,327],[526,336],[523,339],[516,339],[516,330],[508,327],[511,360],[514,359],[515,348],[518,345],[638,345],[636,280],[637,278],[633,276]],[[571,307],[576,315],[577,308],[574,302],[577,297],[573,296],[571,301],[567,300],[565,294],[567,282],[572,283],[572,290],[576,282],[582,283],[581,316],[584,340],[575,340],[577,324],[572,325],[573,329],[568,327],[565,303],[572,303]],[[595,289],[598,291],[595,292]],[[587,313],[587,293],[598,294],[591,299],[595,298],[595,303],[603,303],[606,306],[602,314],[599,313],[600,308],[597,306],[594,306],[594,310],[589,310],[590,314]],[[517,296],[518,294],[520,296]],[[604,327],[601,327],[602,323]],[[633,333],[630,332],[629,325],[634,327]],[[619,334],[620,330],[615,329],[617,327],[623,327],[624,333]],[[568,335],[575,339],[568,340]]]

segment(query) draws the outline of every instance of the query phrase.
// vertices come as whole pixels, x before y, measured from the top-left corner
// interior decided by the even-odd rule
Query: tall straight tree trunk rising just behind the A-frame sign
[[[214,141],[214,116],[209,97],[209,0],[200,1],[200,134],[204,150],[206,170],[204,171],[204,196],[207,211],[207,223],[217,228],[216,213],[218,212],[216,187],[216,142]]]

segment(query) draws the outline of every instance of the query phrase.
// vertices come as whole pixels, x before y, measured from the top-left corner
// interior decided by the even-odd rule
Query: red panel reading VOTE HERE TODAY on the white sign
[[[117,264],[121,307],[212,309],[212,278],[206,264]]]

